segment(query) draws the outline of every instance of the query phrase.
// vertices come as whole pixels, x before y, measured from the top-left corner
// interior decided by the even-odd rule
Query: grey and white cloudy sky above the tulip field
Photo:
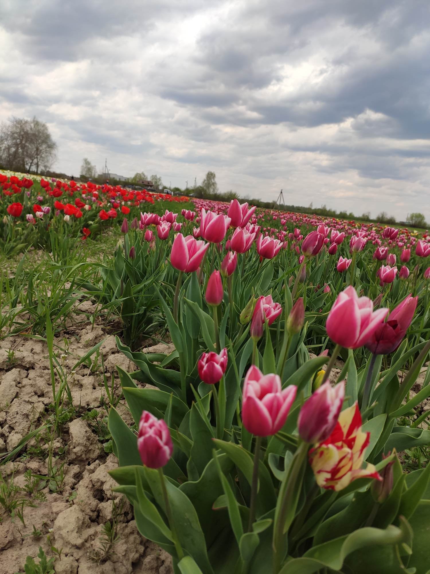
[[[430,220],[428,0],[1,0],[0,121],[55,168]]]

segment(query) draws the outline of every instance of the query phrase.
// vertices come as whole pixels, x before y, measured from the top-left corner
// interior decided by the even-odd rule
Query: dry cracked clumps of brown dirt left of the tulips
[[[91,358],[92,366],[81,364],[73,370],[76,362],[103,339],[99,352]],[[130,503],[112,492],[116,483],[108,471],[116,468],[118,461],[105,452],[95,420],[86,416],[95,413],[100,421],[106,414],[102,356],[104,374],[110,381],[113,373],[117,386],[116,365],[126,371],[136,367],[118,352],[115,337],[100,325],[69,329],[55,343],[58,361],[67,373],[76,417],[64,422],[62,435],[50,444],[35,437],[14,461],[0,466],[0,480],[21,488],[17,495],[25,501],[24,523],[16,513],[14,517],[4,513],[0,519],[0,574],[24,572],[26,556],[32,556],[37,564],[40,546],[46,556],[56,556],[56,574],[171,574],[169,554],[140,536]],[[172,350],[172,346],[159,344],[143,351]],[[22,336],[1,340],[0,455],[17,447],[30,430],[43,424],[50,404],[46,344]],[[126,405],[120,402],[117,408],[132,424]],[[49,474],[49,449],[56,459],[58,476],[61,473],[60,488],[52,491],[46,479],[34,492],[28,492],[29,471],[41,477]]]

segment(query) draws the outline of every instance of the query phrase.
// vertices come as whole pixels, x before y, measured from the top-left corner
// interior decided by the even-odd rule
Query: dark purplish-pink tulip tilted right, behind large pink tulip
[[[395,351],[404,338],[417,307],[418,297],[408,295],[381,323],[366,343],[374,355],[388,355]]]

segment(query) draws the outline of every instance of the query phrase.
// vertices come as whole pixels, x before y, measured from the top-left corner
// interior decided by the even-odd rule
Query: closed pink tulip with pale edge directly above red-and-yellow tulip
[[[305,443],[328,439],[336,426],[345,396],[345,381],[331,387],[327,381],[316,389],[300,409],[299,435]]]

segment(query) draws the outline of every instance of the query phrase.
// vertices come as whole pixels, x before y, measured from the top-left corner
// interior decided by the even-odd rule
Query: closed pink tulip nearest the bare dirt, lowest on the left
[[[173,443],[165,421],[158,420],[147,410],[142,412],[139,421],[138,451],[142,463],[149,468],[165,466],[173,452]]]

